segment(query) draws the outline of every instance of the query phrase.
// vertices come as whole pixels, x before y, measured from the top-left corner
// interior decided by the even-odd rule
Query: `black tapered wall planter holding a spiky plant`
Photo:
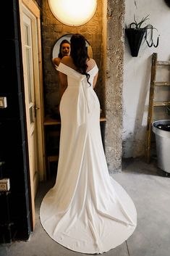
[[[146,33],[145,28],[125,28],[125,33],[127,35],[127,40],[129,42],[129,48],[132,54],[132,57],[137,57],[140,50],[140,45],[143,41],[143,36]]]

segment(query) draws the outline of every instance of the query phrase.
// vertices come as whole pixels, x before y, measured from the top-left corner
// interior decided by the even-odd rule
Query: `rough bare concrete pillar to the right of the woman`
[[[109,171],[122,164],[122,86],[124,67],[124,0],[107,1],[106,19],[106,160]]]

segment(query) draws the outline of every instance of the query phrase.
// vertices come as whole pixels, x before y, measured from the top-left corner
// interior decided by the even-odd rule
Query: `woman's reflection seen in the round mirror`
[[[59,66],[59,62],[61,61],[62,57],[68,56],[70,53],[70,43],[66,39],[61,41],[61,44],[59,46],[59,55],[58,57],[53,59],[55,67]]]

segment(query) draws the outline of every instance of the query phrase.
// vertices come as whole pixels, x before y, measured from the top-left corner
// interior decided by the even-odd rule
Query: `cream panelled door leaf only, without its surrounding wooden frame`
[[[33,30],[31,27],[31,19],[25,12],[23,12],[24,24],[24,51],[26,58],[25,69],[25,104],[27,115],[27,136],[29,141],[29,163],[31,180],[33,182],[33,197],[35,197],[38,188],[38,154],[37,154],[37,120],[35,102],[35,81],[34,81],[34,68],[33,68]]]

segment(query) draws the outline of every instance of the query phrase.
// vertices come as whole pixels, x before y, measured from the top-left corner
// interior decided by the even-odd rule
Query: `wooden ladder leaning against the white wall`
[[[166,107],[170,106],[170,101],[156,102],[154,101],[155,88],[157,86],[170,86],[170,81],[157,82],[156,81],[156,71],[157,67],[169,66],[170,61],[158,61],[158,54],[154,52],[152,54],[152,65],[151,65],[151,75],[150,75],[150,95],[149,95],[149,106],[148,106],[148,121],[147,121],[147,131],[146,131],[146,146],[145,146],[145,161],[150,162],[150,144],[151,144],[151,132],[153,123],[153,110],[154,107]]]

